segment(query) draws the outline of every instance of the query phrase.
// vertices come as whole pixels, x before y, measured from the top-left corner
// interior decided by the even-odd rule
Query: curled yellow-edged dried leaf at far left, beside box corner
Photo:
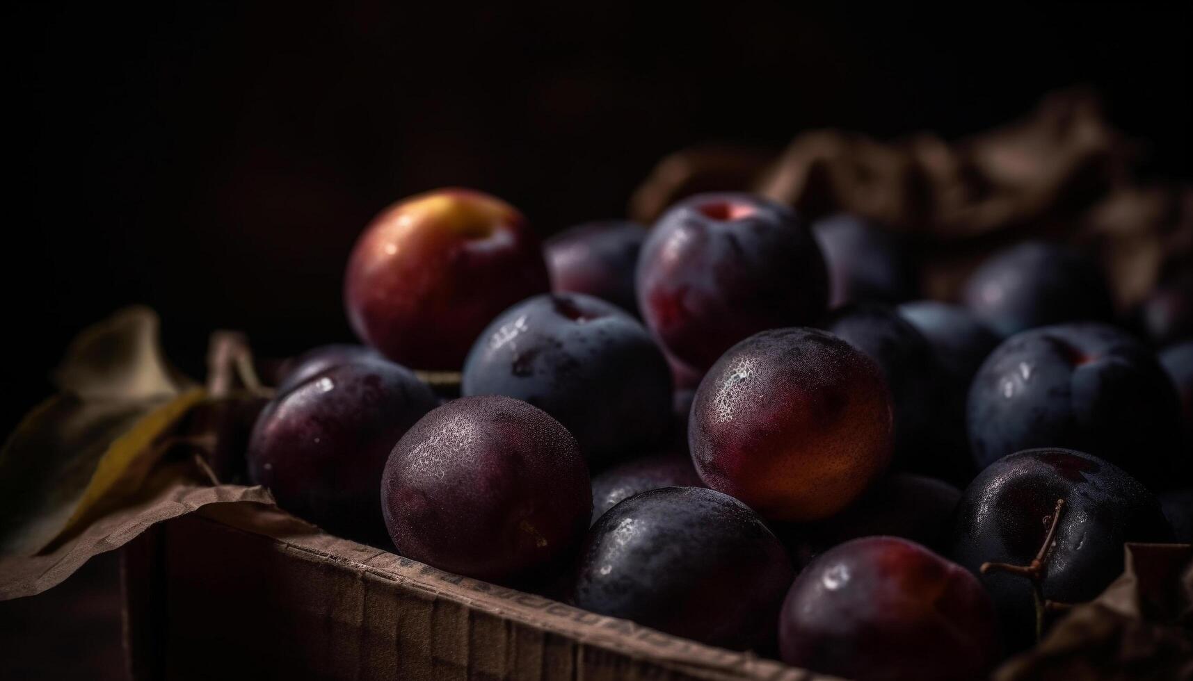
[[[62,392],[0,450],[0,555],[32,555],[105,495],[135,488],[160,453],[149,445],[204,396],[173,377],[146,308],[80,334],[56,379]]]

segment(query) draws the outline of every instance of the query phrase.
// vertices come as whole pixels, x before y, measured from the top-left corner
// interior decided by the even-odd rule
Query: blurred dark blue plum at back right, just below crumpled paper
[[[995,253],[965,283],[965,305],[1006,338],[1047,324],[1108,321],[1106,276],[1080,253],[1028,241]]]

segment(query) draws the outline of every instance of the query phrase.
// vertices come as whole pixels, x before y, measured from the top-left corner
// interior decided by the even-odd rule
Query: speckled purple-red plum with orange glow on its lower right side
[[[891,440],[878,365],[810,328],[734,346],[700,382],[688,423],[700,479],[768,520],[837,513],[886,470]]]

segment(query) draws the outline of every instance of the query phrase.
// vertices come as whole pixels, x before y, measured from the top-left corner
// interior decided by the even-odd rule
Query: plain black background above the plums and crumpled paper
[[[128,303],[160,311],[193,376],[217,328],[278,355],[348,339],[353,240],[437,186],[501,196],[545,235],[623,215],[687,144],[954,138],[1074,85],[1149,143],[1149,173],[1191,175],[1188,10],[428,5],[10,17],[6,432],[69,338]]]

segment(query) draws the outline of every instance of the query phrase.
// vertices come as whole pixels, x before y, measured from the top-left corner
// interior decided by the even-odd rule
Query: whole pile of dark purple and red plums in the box
[[[348,262],[366,345],[289,363],[249,477],[330,532],[712,645],[979,676],[1124,543],[1189,541],[1193,297],[1123,322],[1095,264],[1028,242],[964,304],[915,301],[915,255],[742,193],[543,246],[496,198],[418,196]]]

